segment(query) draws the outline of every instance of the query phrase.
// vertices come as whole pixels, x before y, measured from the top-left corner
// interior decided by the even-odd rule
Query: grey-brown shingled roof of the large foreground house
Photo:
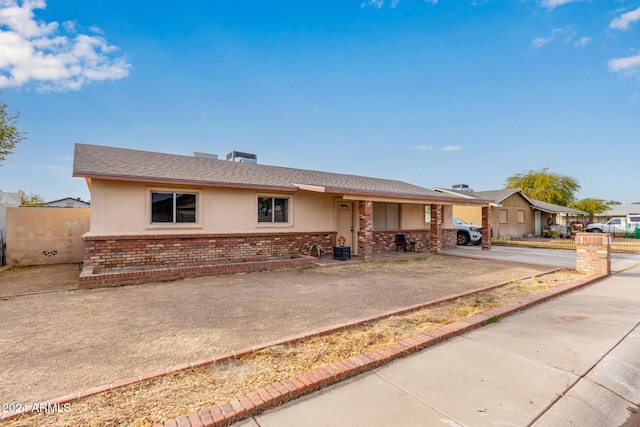
[[[389,179],[88,144],[75,146],[73,176],[285,191],[303,189],[425,201],[459,201],[434,190]],[[471,204],[475,204],[474,202],[471,201]]]

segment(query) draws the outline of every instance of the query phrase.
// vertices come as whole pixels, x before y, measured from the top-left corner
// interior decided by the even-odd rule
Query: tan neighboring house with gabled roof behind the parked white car
[[[491,237],[498,239],[542,236],[552,227],[568,226],[570,217],[584,215],[566,206],[530,199],[519,188],[491,191],[437,188],[436,191],[465,200],[490,200]],[[476,207],[454,206],[453,215],[470,224],[481,224],[482,214]]]

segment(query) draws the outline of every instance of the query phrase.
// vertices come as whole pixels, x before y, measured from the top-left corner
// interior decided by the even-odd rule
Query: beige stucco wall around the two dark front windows
[[[151,224],[151,191],[196,192],[196,224]],[[291,197],[288,224],[257,222],[258,196]],[[158,186],[92,180],[91,236],[127,234],[283,233],[335,230],[335,196],[245,189]]]

